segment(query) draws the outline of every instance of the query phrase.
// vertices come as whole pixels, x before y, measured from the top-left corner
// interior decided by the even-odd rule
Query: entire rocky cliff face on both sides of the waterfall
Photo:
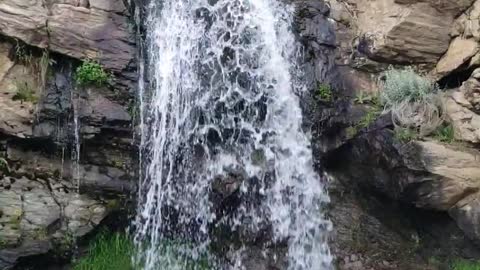
[[[338,267],[438,269],[430,259],[478,258],[480,1],[295,2],[312,90],[305,122],[331,179]],[[137,50],[129,15],[121,0],[0,0],[0,268],[61,257],[128,199]],[[85,59],[113,80],[77,87]],[[398,141],[388,115],[351,132],[369,111],[358,94],[379,91],[390,65],[445,88],[455,143]],[[331,101],[315,99],[319,84],[333,86]],[[281,268],[250,253],[259,269]]]

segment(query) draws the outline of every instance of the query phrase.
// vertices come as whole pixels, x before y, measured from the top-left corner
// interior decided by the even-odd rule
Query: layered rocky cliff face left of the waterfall
[[[121,0],[0,1],[1,269],[33,255],[62,257],[128,198],[132,29]],[[85,59],[113,80],[78,87]]]

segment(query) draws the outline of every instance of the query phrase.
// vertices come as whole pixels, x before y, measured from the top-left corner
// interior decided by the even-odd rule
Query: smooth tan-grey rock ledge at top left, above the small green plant
[[[68,55],[99,60],[115,72],[134,59],[126,9],[121,0],[11,0],[0,2],[0,34]]]

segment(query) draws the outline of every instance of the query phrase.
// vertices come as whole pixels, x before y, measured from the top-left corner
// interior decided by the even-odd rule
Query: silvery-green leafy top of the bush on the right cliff
[[[418,75],[411,67],[390,68],[385,72],[380,98],[387,107],[394,107],[402,102],[427,100],[437,89],[433,81]]]

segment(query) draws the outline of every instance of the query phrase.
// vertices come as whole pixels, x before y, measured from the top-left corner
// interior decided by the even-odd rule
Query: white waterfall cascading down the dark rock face
[[[224,224],[253,234],[268,228],[271,243],[288,245],[288,269],[330,269],[329,199],[301,127],[293,7],[151,0],[147,10],[136,263],[195,269],[211,227]],[[221,215],[212,190],[232,178],[241,199]],[[242,269],[240,260],[216,261],[211,268]]]

